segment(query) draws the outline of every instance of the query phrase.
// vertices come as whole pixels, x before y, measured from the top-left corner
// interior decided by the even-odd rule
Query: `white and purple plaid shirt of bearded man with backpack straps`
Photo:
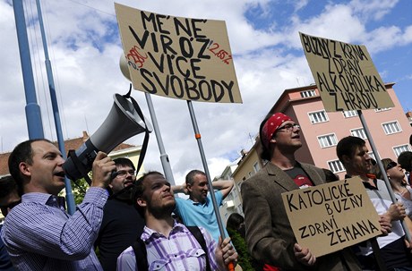
[[[217,243],[202,227],[200,228],[208,247],[210,269],[219,270],[216,262]],[[175,222],[168,238],[147,226],[142,233],[146,243],[149,270],[206,270],[205,251],[184,224]],[[117,258],[117,271],[134,271],[136,258],[132,247],[127,248]]]

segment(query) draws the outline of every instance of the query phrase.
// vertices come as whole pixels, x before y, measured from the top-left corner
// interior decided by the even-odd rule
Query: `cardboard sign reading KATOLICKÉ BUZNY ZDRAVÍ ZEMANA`
[[[381,234],[359,177],[282,194],[296,240],[316,257]]]

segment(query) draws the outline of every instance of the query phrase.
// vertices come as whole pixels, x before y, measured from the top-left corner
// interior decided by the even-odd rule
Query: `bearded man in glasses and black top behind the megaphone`
[[[113,161],[116,172],[108,184],[113,194],[103,210],[103,221],[95,242],[105,271],[116,270],[117,257],[141,236],[144,227],[144,220],[130,198],[130,186],[136,181],[133,162],[124,157]]]

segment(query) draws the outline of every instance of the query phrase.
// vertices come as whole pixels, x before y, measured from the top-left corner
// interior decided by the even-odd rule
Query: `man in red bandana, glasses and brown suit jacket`
[[[269,162],[242,185],[246,241],[253,258],[282,270],[361,270],[351,250],[316,258],[296,243],[281,193],[326,182],[321,168],[299,163],[300,126],[288,115],[270,114],[260,127],[262,159]]]

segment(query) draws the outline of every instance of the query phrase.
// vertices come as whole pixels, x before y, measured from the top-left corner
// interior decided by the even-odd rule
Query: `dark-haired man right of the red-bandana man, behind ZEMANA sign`
[[[345,178],[359,176],[362,180],[373,206],[380,215],[384,233],[377,238],[374,248],[374,239],[371,239],[354,246],[354,250],[364,269],[412,270],[412,255],[407,248],[403,237],[405,233],[399,223],[399,219],[408,219],[405,207],[399,203],[393,204],[385,182],[370,174],[372,157],[368,152],[365,140],[353,136],[339,140],[336,147],[336,154],[347,170]],[[391,167],[391,165],[387,166]]]

